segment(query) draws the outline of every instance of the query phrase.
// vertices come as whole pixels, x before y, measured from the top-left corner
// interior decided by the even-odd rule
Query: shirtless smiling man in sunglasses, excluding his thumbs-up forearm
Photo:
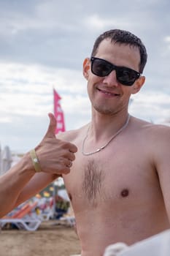
[[[107,31],[91,57],[83,63],[91,121],[58,138],[78,148],[70,173],[62,176],[82,256],[101,256],[109,244],[134,244],[169,229],[170,129],[128,115],[131,94],[145,80],[147,53],[139,38]],[[37,173],[16,202],[34,195],[44,175]]]

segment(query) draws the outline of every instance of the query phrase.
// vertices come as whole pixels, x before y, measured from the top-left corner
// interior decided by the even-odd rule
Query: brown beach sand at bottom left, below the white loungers
[[[1,256],[69,256],[80,254],[74,227],[56,221],[42,222],[38,230],[3,229],[0,232]]]

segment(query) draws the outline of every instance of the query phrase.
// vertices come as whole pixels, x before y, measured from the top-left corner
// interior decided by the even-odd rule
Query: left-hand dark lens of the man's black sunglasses
[[[94,75],[105,77],[112,71],[112,66],[101,59],[94,59],[92,62],[91,71]]]

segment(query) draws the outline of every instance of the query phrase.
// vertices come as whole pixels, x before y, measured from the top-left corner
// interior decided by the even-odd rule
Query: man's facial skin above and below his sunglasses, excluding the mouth
[[[131,48],[129,45],[118,45],[108,39],[101,42],[96,57],[106,59],[117,66],[129,67],[135,70],[139,69],[139,49]],[[113,91],[119,95],[117,97],[102,97],[98,87],[108,89],[108,91]],[[92,110],[96,110],[98,113],[112,116],[122,110],[127,110],[131,89],[132,87],[123,86],[117,80],[107,83],[107,80],[104,80],[104,78],[97,77],[91,72],[89,73],[88,96]]]

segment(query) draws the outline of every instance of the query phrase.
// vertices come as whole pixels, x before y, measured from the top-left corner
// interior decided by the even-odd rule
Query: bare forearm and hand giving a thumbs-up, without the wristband
[[[56,121],[49,114],[50,125],[42,142],[36,146],[36,155],[41,173],[36,173],[30,154],[27,153],[0,178],[0,217],[26,199],[34,196],[47,184],[63,173],[69,173],[69,164],[74,161],[77,147],[55,138]]]

